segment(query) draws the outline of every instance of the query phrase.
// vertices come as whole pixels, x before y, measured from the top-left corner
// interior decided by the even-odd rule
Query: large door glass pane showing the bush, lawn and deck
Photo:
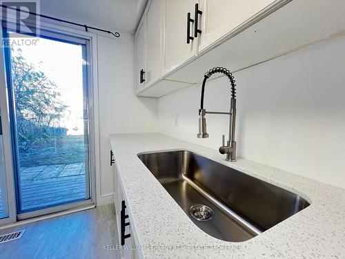
[[[90,198],[85,51],[51,38],[10,48],[20,212]]]

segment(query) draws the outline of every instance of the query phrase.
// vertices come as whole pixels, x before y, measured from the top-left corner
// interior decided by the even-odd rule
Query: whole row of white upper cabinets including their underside
[[[137,95],[160,97],[214,66],[241,70],[341,35],[345,1],[329,2],[150,0],[135,36]]]

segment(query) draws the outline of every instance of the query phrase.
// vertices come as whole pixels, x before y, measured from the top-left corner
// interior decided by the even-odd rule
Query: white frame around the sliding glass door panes
[[[8,21],[15,21],[15,19],[7,18]],[[99,104],[98,104],[98,70],[97,70],[97,34],[86,32],[83,30],[77,30],[69,26],[61,26],[56,23],[43,22],[41,21],[41,30],[47,30],[52,32],[61,33],[63,35],[70,35],[79,37],[82,39],[88,39],[90,41],[89,49],[89,61],[87,66],[88,69],[88,86],[89,86],[89,116],[90,124],[89,130],[92,132],[90,134],[89,145],[90,145],[90,195],[93,204],[100,204],[101,202],[101,191],[100,191],[100,157],[99,157]],[[10,125],[9,125],[9,115],[8,115],[8,102],[7,102],[7,89],[6,89],[6,75],[3,64],[3,52],[0,55],[0,102],[1,102],[1,117],[3,119],[3,137],[4,145],[6,145],[6,175],[8,175],[8,200],[10,209],[10,218],[7,220],[0,220],[0,224],[6,224],[17,221],[17,211],[15,206],[14,198],[14,180],[13,180],[13,168],[12,168],[12,147],[10,138]],[[90,87],[92,86],[92,87]],[[4,108],[2,108],[4,106]],[[7,122],[6,122],[7,121]],[[87,206],[86,202],[80,202],[80,206]],[[54,209],[54,208],[52,208]],[[57,207],[57,209],[61,209]],[[66,206],[66,209],[72,209]],[[54,210],[45,209],[45,213],[54,213]],[[21,214],[18,220],[23,220],[32,216],[37,216],[38,213],[30,213],[28,215]]]

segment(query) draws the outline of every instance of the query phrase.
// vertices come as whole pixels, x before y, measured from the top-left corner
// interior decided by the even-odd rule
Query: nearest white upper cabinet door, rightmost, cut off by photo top
[[[199,0],[199,52],[227,35],[275,0]]]

